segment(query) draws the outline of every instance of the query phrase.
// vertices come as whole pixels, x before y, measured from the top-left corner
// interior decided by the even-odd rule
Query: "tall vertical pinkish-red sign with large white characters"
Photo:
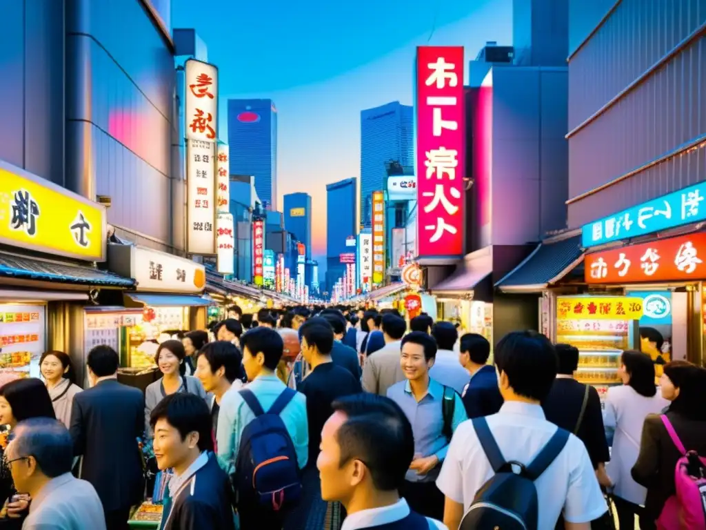
[[[463,254],[463,47],[417,47],[417,250]]]

